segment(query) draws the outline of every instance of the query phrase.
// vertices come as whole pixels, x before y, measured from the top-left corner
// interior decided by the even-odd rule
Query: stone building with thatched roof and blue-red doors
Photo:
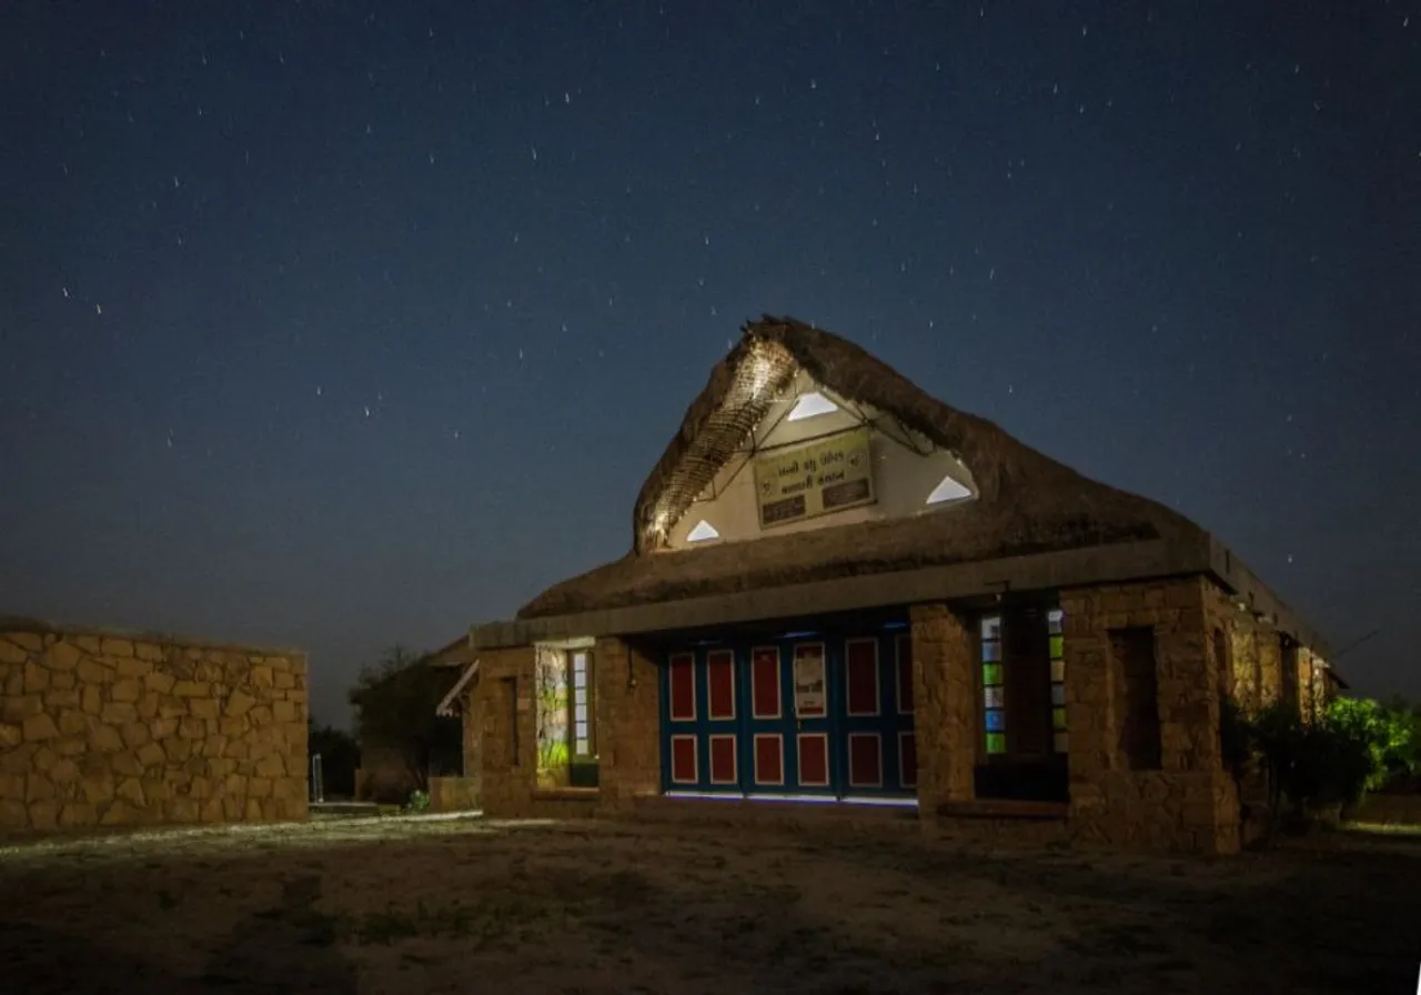
[[[767,317],[686,411],[631,550],[443,662],[489,814],[878,805],[1228,853],[1222,702],[1309,709],[1326,655],[1192,522]]]

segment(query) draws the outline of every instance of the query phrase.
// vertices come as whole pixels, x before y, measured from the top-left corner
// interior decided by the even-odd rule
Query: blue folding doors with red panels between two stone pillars
[[[820,647],[821,685],[797,688],[796,674],[814,674]],[[912,797],[911,675],[902,624],[672,648],[661,667],[662,789]]]

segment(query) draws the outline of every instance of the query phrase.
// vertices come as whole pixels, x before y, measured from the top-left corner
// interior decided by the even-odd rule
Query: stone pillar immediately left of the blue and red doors
[[[595,736],[600,810],[661,790],[661,684],[657,655],[615,637],[597,640]]]

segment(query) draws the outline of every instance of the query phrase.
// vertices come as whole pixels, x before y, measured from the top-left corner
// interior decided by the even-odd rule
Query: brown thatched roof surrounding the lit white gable
[[[971,470],[978,499],[904,519],[666,550],[666,533],[799,370],[953,453]],[[1155,502],[1090,480],[990,421],[936,401],[853,343],[794,318],[766,316],[746,324],[742,340],[710,371],[642,485],[632,513],[631,552],[556,584],[519,617],[1187,533],[1199,530]]]

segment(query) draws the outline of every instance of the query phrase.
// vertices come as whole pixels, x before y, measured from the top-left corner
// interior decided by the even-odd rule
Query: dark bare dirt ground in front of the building
[[[1414,992],[1421,846],[331,822],[0,849],[0,989]]]

